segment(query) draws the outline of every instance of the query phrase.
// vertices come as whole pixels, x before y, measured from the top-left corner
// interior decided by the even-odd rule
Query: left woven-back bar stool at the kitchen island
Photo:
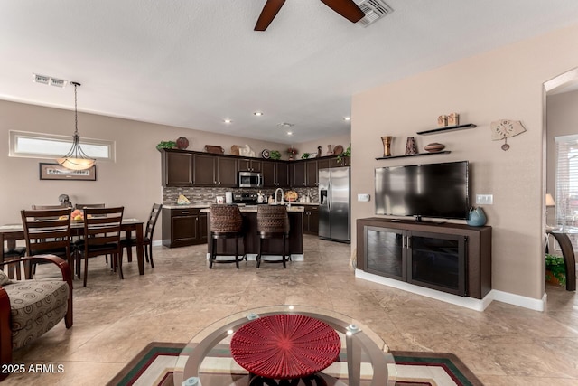
[[[209,268],[213,268],[213,263],[235,263],[238,268],[238,262],[243,256],[238,256],[238,239],[243,239],[243,252],[246,248],[246,237],[243,231],[243,217],[237,205],[213,204],[210,205],[210,258]],[[235,239],[235,259],[217,259],[217,240]],[[233,255],[221,255],[233,256]]]

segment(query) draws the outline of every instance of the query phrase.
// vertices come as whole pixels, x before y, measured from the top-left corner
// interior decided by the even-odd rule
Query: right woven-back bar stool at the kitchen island
[[[289,237],[289,216],[284,205],[259,205],[256,208],[256,233],[259,237],[259,250],[256,255],[256,268],[261,266],[261,255],[263,250],[263,240],[283,239],[283,259],[265,260],[272,263],[283,263],[283,268],[287,268],[287,258],[285,250],[287,238]]]

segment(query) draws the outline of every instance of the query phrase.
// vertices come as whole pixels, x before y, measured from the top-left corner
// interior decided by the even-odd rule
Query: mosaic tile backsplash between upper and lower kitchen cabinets
[[[289,188],[284,188],[284,192],[290,190]],[[299,197],[307,196],[311,197],[311,202],[319,202],[317,188],[297,188],[294,189],[295,192],[299,194]],[[264,189],[239,189],[239,188],[194,188],[194,187],[166,187],[163,188],[163,205],[174,205],[177,203],[179,194],[184,195],[191,203],[202,203],[210,204],[215,202],[217,196],[225,196],[225,192],[261,192],[267,197],[275,193],[273,188]]]

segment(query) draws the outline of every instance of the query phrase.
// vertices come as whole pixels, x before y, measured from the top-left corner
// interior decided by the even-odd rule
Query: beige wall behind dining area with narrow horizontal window
[[[153,202],[162,202],[161,155],[155,146],[161,140],[187,137],[189,149],[202,151],[205,145],[217,145],[230,154],[230,146],[251,146],[257,153],[265,148],[284,149],[283,144],[241,137],[222,136],[181,127],[169,127],[128,119],[79,113],[80,137],[116,141],[117,162],[98,162],[97,181],[40,181],[39,163],[51,159],[8,156],[9,130],[72,135],[74,112],[0,101],[0,181],[2,200],[0,223],[19,223],[20,210],[31,204],[58,204],[61,193],[72,203],[107,202],[124,205],[125,216],[146,220]],[[82,139],[81,139],[82,140]],[[161,223],[154,239],[160,240]]]

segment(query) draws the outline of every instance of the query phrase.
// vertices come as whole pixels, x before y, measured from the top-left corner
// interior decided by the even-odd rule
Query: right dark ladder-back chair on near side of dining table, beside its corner
[[[77,275],[80,278],[80,260],[84,259],[84,281],[87,287],[89,275],[89,259],[102,255],[111,255],[113,268],[118,268],[118,276],[122,279],[123,267],[120,256],[120,225],[125,208],[84,208],[84,234],[76,241]]]

